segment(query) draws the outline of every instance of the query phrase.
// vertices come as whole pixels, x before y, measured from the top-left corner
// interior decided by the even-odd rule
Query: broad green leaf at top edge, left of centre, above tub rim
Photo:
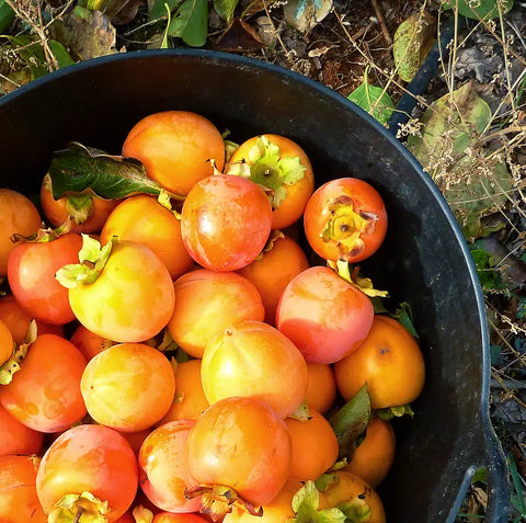
[[[192,47],[205,45],[208,34],[208,1],[184,0],[170,22],[168,34],[182,38]]]

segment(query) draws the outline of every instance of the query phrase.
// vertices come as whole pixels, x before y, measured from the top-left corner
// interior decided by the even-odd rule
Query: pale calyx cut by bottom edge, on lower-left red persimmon
[[[56,503],[49,512],[48,523],[107,523],[107,501],[101,501],[91,492],[70,493]]]

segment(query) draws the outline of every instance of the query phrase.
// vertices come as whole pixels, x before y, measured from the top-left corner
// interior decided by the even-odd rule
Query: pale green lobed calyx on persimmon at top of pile
[[[272,206],[279,207],[287,195],[284,185],[294,185],[305,175],[299,157],[281,157],[281,149],[264,135],[249,151],[250,180],[273,191]]]

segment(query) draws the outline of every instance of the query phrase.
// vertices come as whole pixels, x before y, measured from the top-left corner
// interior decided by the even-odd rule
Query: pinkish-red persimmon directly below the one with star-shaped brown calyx
[[[276,326],[307,362],[334,363],[365,340],[373,317],[373,303],[362,291],[327,266],[312,266],[286,286]]]

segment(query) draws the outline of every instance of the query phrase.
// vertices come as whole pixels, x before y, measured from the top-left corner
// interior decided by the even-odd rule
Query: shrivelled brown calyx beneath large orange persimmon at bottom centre
[[[186,489],[184,496],[187,499],[201,496],[199,512],[210,518],[211,521],[220,520],[225,514],[231,512],[233,507],[244,510],[251,515],[263,514],[261,507],[254,507],[231,487],[225,485],[201,485],[195,489]]]

